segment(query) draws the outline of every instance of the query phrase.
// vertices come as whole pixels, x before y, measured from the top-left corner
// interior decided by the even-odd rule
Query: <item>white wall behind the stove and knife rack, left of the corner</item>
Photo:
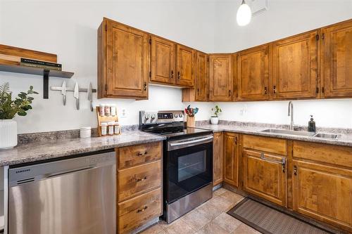
[[[210,1],[3,1],[0,0],[0,44],[56,53],[63,70],[75,72],[68,86],[77,81],[96,87],[96,30],[103,16],[147,32],[187,44],[201,51],[213,51],[215,3]],[[0,84],[10,82],[14,93],[33,85],[33,110],[16,117],[19,133],[78,129],[96,126],[87,93],[81,93],[81,110],[75,109],[73,93],[63,106],[58,91],[42,98],[42,77],[0,72]],[[49,86],[61,86],[62,79],[49,79]],[[96,96],[94,96],[96,98]],[[151,86],[149,100],[94,100],[94,104],[115,103],[125,109],[121,124],[137,124],[139,110],[182,109],[181,90]]]

